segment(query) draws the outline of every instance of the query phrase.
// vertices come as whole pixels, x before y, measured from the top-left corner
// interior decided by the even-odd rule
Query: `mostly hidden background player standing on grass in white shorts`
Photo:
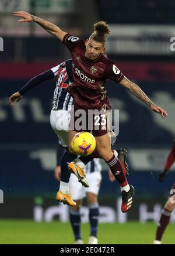
[[[58,146],[57,149],[57,167],[55,168],[55,178],[60,180],[61,174],[61,156],[64,148]],[[100,159],[93,159],[85,168],[86,177],[89,181],[89,187],[82,186],[74,174],[69,179],[69,192],[72,199],[76,203],[69,211],[69,220],[71,222],[72,231],[74,233],[75,244],[83,244],[81,235],[81,206],[82,201],[86,197],[89,208],[89,224],[90,235],[88,244],[97,244],[97,227],[99,223],[99,203],[97,196],[99,194],[101,183],[101,164]]]

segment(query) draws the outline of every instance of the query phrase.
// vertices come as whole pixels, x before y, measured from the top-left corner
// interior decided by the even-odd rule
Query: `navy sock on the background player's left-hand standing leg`
[[[74,210],[70,210],[70,221],[71,221],[71,226],[72,226],[72,230],[74,232],[74,237],[75,240],[78,239],[82,239],[81,238],[81,215],[79,213],[79,211],[74,211]]]

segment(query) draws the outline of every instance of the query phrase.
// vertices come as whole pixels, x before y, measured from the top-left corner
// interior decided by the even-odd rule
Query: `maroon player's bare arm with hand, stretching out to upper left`
[[[48,33],[58,37],[58,39],[60,39],[61,41],[64,39],[64,36],[67,34],[66,32],[62,31],[60,28],[58,28],[58,26],[54,25],[53,23],[44,21],[44,19],[40,19],[37,16],[31,15],[28,12],[24,12],[24,11],[14,12],[14,15],[22,18],[22,19],[19,19],[19,22],[33,21],[38,23],[38,25],[46,29]]]

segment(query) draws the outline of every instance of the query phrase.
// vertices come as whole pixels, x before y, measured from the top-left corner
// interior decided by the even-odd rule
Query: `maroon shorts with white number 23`
[[[110,113],[109,108],[103,110],[82,110],[78,105],[74,105],[71,111],[71,121],[69,129],[82,132],[92,131],[94,136],[102,136],[110,131]]]

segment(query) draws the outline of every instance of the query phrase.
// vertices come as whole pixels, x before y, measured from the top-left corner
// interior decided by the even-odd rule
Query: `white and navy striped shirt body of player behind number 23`
[[[51,70],[54,73],[54,77],[57,78],[53,97],[53,110],[71,110],[74,99],[67,91],[70,80],[65,62],[53,67]]]

